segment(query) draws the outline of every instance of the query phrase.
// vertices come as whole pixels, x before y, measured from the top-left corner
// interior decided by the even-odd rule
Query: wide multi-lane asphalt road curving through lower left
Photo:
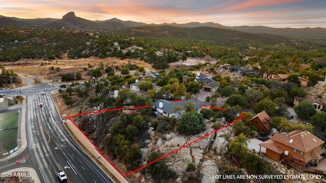
[[[26,81],[26,80],[25,80]],[[29,82],[30,83],[30,82]],[[64,127],[50,95],[55,85],[41,84],[24,87],[26,97],[25,134],[28,146],[15,158],[0,163],[0,172],[19,167],[32,167],[41,182],[60,182],[56,172],[64,170],[68,182],[113,182],[89,156],[79,148]],[[21,89],[18,89],[21,91]],[[16,90],[11,92],[16,93]],[[45,94],[42,95],[41,92]],[[39,103],[43,107],[39,107]],[[26,163],[16,164],[24,156]]]

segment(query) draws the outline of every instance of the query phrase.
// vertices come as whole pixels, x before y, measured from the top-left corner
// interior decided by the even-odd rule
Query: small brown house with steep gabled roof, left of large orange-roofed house
[[[258,131],[268,132],[269,130],[271,130],[271,118],[265,111],[258,113],[256,116],[253,117],[252,120],[250,120],[250,122],[251,125],[256,126]]]

